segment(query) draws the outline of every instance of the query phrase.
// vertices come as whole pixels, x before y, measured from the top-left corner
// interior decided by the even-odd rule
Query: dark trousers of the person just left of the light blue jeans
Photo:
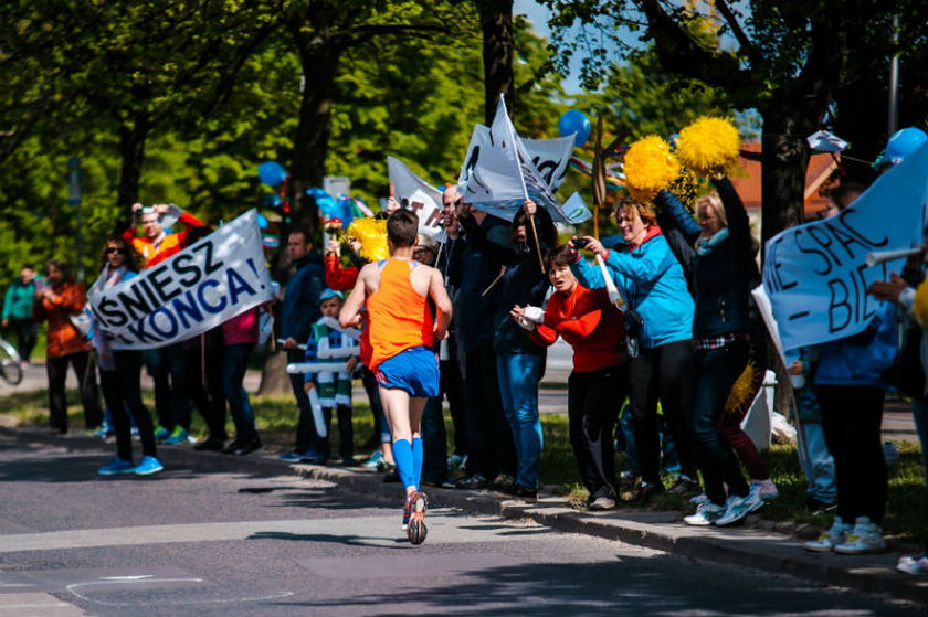
[[[493,479],[503,472],[516,475],[513,432],[499,397],[496,353],[492,347],[468,351],[464,396],[467,402],[467,475]]]

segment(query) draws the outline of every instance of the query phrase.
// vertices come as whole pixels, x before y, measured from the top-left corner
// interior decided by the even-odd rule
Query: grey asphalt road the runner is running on
[[[104,461],[0,434],[0,617],[911,615],[441,503],[414,547],[398,503],[328,482],[218,471],[209,457],[102,479]]]

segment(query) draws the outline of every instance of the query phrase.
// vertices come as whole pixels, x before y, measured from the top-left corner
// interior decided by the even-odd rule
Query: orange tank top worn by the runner
[[[432,347],[434,317],[429,298],[410,283],[416,262],[388,259],[380,263],[380,285],[367,299],[371,359],[369,368],[414,347]]]

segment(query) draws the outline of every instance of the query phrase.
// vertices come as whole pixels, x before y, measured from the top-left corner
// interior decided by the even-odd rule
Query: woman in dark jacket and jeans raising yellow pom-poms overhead
[[[690,525],[731,524],[763,506],[718,428],[731,386],[748,364],[748,298],[757,265],[748,214],[738,193],[725,178],[713,184],[718,192],[696,202],[698,223],[672,193],[662,191],[656,199],[696,248],[692,263],[696,300],[692,426],[708,501],[684,518]]]

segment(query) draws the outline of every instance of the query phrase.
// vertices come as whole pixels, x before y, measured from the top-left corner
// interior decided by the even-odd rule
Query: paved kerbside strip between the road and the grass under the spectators
[[[2,423],[0,423],[2,425]],[[38,428],[0,427],[3,435],[36,448],[55,446],[68,450],[96,450],[107,460],[113,445],[86,436],[53,437]],[[334,482],[344,490],[363,493],[378,501],[396,503],[401,499],[398,485],[383,483],[382,476],[363,468],[289,465],[262,450],[247,457],[200,453],[189,446],[164,446],[159,456],[165,467],[222,469],[254,475],[296,474],[300,477]],[[708,560],[734,566],[790,575],[816,586],[839,586],[864,593],[885,594],[889,598],[914,603],[913,614],[928,610],[928,577],[896,572],[896,561],[904,552],[897,546],[879,555],[842,556],[810,553],[801,539],[818,531],[793,522],[774,523],[749,517],[735,528],[689,528],[678,512],[618,509],[608,512],[581,512],[569,507],[566,498],[549,490],[539,491],[537,504],[506,500],[489,491],[430,489],[432,507],[458,509],[467,513],[498,515],[505,519],[531,519],[553,529],[620,540],[693,560]],[[911,553],[916,547],[901,547]],[[916,613],[915,610],[918,610]]]

